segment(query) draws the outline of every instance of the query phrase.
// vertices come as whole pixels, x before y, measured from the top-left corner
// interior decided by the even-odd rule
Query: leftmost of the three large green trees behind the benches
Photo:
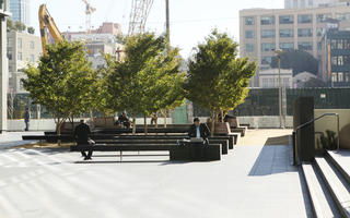
[[[61,40],[46,49],[37,68],[28,65],[24,70],[27,78],[22,82],[35,104],[52,114],[60,134],[60,126],[69,117],[88,110],[96,74],[85,58],[83,44]]]

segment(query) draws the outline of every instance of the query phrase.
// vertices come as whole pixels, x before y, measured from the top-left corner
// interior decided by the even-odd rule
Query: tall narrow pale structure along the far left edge
[[[9,1],[0,1],[0,133],[8,130],[7,17],[11,15]]]

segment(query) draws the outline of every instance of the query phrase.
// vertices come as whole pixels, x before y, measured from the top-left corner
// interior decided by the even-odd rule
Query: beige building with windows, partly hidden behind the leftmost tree
[[[21,78],[28,63],[36,64],[42,55],[40,37],[26,32],[8,33],[9,88],[13,93],[26,93]]]

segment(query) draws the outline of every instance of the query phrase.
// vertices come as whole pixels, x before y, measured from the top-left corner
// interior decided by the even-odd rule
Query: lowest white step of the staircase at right
[[[317,218],[340,217],[336,206],[312,164],[303,164],[306,186],[312,207]]]

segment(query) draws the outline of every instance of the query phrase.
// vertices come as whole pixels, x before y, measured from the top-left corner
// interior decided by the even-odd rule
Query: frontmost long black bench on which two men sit
[[[148,145],[138,145],[138,144],[96,144],[94,146],[90,145],[79,145],[79,146],[71,146],[71,152],[120,152],[120,161],[122,161],[122,152],[154,152],[154,150],[168,150],[170,152],[170,160],[178,161],[178,160],[194,160],[191,148],[192,146],[198,145],[159,145],[159,144],[148,144]],[[221,159],[221,145],[220,144],[211,144],[208,146],[203,146],[205,156],[202,160],[220,160]]]

